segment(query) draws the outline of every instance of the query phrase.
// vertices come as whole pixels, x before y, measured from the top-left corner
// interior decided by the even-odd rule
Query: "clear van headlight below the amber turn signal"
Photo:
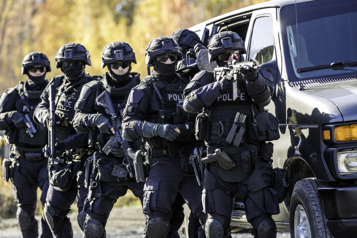
[[[357,151],[337,153],[337,167],[340,174],[357,172]]]

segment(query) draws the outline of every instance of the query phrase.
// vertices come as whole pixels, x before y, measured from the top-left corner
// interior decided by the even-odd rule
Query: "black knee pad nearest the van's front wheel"
[[[276,238],[276,224],[271,216],[253,219],[252,227],[258,238]]]

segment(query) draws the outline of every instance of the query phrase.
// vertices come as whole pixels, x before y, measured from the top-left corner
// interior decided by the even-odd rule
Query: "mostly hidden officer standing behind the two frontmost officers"
[[[206,47],[202,47],[202,41],[200,37],[196,34],[196,32],[188,30],[188,29],[180,29],[177,31],[174,31],[171,35],[171,38],[174,39],[177,44],[181,47],[182,49],[182,57],[183,60],[180,60],[177,62],[176,69],[181,69],[187,65],[193,64],[196,62],[194,59],[195,54],[191,54],[192,57],[190,57],[190,62],[187,64],[187,52],[190,51],[190,49],[194,49],[196,46],[196,49],[206,49]],[[201,47],[201,48],[200,48]],[[193,69],[188,69],[182,72],[185,76],[188,76],[191,78],[195,76],[195,74],[198,73],[197,67],[194,67]],[[175,202],[172,204],[172,217],[170,220],[170,224],[172,224],[177,230],[180,228],[183,219],[185,217],[185,214],[183,213],[183,204],[185,204],[185,200],[183,199],[182,195],[180,193],[177,193],[177,197]],[[197,237],[197,229],[201,226],[200,221],[195,217],[195,215],[191,212],[190,217],[188,218],[188,236],[190,238]]]

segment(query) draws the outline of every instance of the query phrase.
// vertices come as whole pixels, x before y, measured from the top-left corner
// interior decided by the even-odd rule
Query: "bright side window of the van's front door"
[[[255,20],[249,47],[249,59],[257,65],[271,61],[274,55],[274,38],[269,16]]]

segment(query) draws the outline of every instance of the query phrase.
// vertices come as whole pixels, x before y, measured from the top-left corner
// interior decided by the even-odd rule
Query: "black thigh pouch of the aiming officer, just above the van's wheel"
[[[279,203],[282,203],[288,193],[290,180],[286,169],[273,168],[273,188],[279,193]]]

